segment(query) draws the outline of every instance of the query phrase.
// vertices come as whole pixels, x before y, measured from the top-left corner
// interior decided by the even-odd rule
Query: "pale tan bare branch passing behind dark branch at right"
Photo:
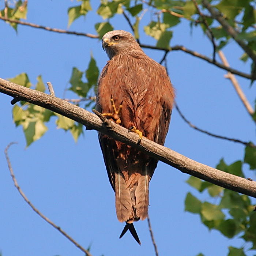
[[[227,62],[227,59],[226,59],[224,53],[221,50],[219,50],[218,54],[219,54],[219,57],[221,58],[223,64],[226,67],[229,67],[229,63]],[[253,116],[254,110],[253,110],[251,104],[249,103],[249,101],[246,99],[246,96],[245,96],[244,92],[242,91],[236,77],[233,74],[231,74],[230,72],[228,72],[227,75],[225,75],[225,78],[230,79],[231,83],[233,84],[233,86],[234,86],[234,88],[235,88],[235,90],[238,94],[238,97],[241,99],[241,101],[244,104],[246,110],[248,111],[248,113],[251,116]]]

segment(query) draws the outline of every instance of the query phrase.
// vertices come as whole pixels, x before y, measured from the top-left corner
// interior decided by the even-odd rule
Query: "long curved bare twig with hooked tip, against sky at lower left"
[[[12,170],[12,166],[11,166],[11,162],[10,159],[8,157],[8,149],[12,144],[17,144],[17,142],[12,142],[10,143],[4,150],[4,154],[5,154],[5,158],[8,164],[8,168],[10,170],[11,176],[12,176],[12,180],[14,182],[14,186],[16,187],[16,189],[18,189],[20,195],[23,197],[23,199],[26,201],[27,204],[29,204],[29,206],[41,217],[43,218],[46,222],[48,222],[50,225],[52,225],[55,229],[59,230],[61,234],[63,234],[63,236],[67,237],[69,241],[71,241],[76,247],[78,247],[82,252],[84,252],[87,256],[92,256],[91,253],[89,251],[87,251],[86,249],[84,249],[81,245],[79,245],[72,237],[70,237],[67,233],[65,233],[65,231],[63,231],[59,226],[55,225],[52,221],[50,221],[46,216],[44,216],[37,208],[34,207],[34,205],[29,201],[29,199],[27,198],[27,196],[25,195],[25,193],[22,191],[22,189],[19,187],[18,182],[14,176],[14,172]]]

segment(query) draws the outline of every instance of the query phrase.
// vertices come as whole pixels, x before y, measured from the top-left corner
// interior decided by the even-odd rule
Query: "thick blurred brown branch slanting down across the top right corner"
[[[233,37],[233,39],[237,42],[238,45],[241,46],[242,49],[248,54],[248,56],[256,63],[256,54],[253,52],[251,48],[241,39],[237,38],[238,32],[229,25],[229,23],[223,18],[221,12],[219,12],[216,8],[212,7],[212,5],[207,1],[202,1],[203,6],[210,12],[212,18],[218,20],[218,22],[222,25],[223,29]]]

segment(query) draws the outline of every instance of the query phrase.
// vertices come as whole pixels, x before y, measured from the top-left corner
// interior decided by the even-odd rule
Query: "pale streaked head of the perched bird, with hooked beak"
[[[132,54],[138,50],[142,52],[133,35],[124,30],[113,30],[103,35],[102,48],[106,50],[109,59],[118,54]]]

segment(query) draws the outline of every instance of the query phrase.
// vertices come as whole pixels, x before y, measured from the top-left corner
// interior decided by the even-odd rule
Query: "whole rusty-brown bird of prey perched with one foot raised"
[[[102,38],[109,57],[98,81],[96,109],[106,118],[163,145],[174,89],[165,68],[148,57],[131,33],[114,30]],[[140,244],[133,222],[148,214],[148,185],[157,160],[98,133],[108,177],[116,195],[116,214]]]

